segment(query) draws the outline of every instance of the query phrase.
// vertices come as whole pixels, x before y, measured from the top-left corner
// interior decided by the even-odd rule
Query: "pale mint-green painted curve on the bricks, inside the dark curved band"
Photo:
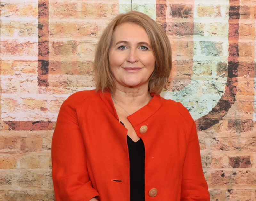
[[[175,5],[176,4],[174,4],[173,7],[175,7]],[[227,0],[226,5],[228,8]],[[202,8],[200,8],[200,6],[202,6]],[[223,25],[223,17],[221,18],[220,28],[222,32],[218,30],[215,31],[214,29],[217,29],[216,26],[219,25],[216,23],[215,18],[212,17],[212,19],[209,19],[208,15],[204,16],[202,13],[200,16],[199,9],[203,9],[204,6],[207,7],[209,4],[204,5],[201,1],[195,1],[193,5],[193,23],[195,28],[191,31],[194,33],[194,37],[193,44],[190,44],[190,46],[193,45],[194,50],[194,56],[191,58],[193,61],[191,64],[184,63],[184,66],[187,66],[187,68],[186,70],[183,69],[183,71],[186,72],[180,72],[180,74],[184,74],[184,79],[180,81],[176,80],[175,85],[177,86],[177,89],[172,89],[172,87],[167,86],[167,90],[164,90],[161,93],[161,96],[166,99],[181,102],[188,108],[195,120],[207,115],[211,112],[212,108],[217,105],[218,101],[225,93],[228,76],[228,17],[225,19],[226,26],[225,24]],[[212,15],[214,15],[214,13]],[[221,14],[218,16],[220,17],[220,15]],[[221,16],[224,16],[224,14]],[[202,30],[198,28],[198,24],[201,24],[202,18],[207,20],[204,24],[205,29],[207,30],[205,32],[203,28],[201,28]],[[186,27],[186,30],[188,28],[189,27]],[[182,29],[182,27],[180,27],[180,29]],[[203,33],[202,35],[200,34],[200,31]],[[214,31],[215,33],[212,33]],[[220,36],[218,34],[220,34]],[[215,37],[216,40],[213,41],[212,37]],[[182,37],[181,39],[178,38],[176,40],[182,40]],[[184,40],[186,40],[186,38]],[[174,56],[175,53],[178,54],[177,52],[174,52]],[[187,55],[184,56],[186,56],[185,58],[188,57]],[[190,65],[192,73],[189,70]],[[180,67],[182,68],[182,66]],[[186,79],[185,75],[187,74],[192,74],[192,76],[187,76],[188,78]]]

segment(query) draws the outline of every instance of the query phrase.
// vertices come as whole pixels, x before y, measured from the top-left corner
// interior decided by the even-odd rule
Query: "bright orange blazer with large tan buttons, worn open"
[[[153,95],[127,117],[145,145],[146,201],[209,201],[195,122]],[[81,91],[61,106],[52,138],[56,201],[130,201],[127,129],[109,92]]]

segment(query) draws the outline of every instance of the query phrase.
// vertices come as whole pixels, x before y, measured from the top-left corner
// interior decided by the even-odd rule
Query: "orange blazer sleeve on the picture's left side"
[[[88,201],[99,196],[89,179],[79,130],[77,100],[62,104],[52,138],[52,179],[56,201]]]

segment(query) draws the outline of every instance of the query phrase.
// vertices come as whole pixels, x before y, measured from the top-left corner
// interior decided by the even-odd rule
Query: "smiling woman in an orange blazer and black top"
[[[56,200],[209,199],[196,126],[159,96],[171,70],[169,40],[132,11],[107,26],[96,48],[96,90],[61,106],[52,139]]]

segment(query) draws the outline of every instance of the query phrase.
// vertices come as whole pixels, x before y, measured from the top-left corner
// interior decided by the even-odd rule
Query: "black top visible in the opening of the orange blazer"
[[[145,201],[145,147],[127,135],[130,160],[130,201]]]

